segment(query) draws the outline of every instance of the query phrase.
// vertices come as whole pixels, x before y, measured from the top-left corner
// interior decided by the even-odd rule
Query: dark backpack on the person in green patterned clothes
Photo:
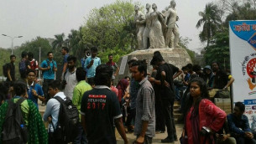
[[[28,141],[28,130],[20,109],[20,104],[24,100],[24,97],[16,103],[8,100],[8,111],[3,122],[3,144],[24,144]]]

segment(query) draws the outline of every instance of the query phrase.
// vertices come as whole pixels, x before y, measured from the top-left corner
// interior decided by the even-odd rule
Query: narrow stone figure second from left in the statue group
[[[144,34],[143,34],[144,49],[149,48],[149,31],[150,31],[150,27],[151,27],[150,8],[151,8],[151,5],[149,3],[147,3],[146,4],[147,13],[145,15],[146,27],[144,28]]]

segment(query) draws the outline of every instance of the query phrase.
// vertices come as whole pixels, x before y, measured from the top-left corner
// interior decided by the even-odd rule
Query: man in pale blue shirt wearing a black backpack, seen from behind
[[[49,84],[52,97],[46,105],[44,121],[49,121],[49,144],[66,144],[74,141],[79,126],[79,113],[72,101],[61,91],[60,80]]]

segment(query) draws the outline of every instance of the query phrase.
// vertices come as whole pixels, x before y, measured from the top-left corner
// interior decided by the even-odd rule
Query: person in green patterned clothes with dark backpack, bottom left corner
[[[3,143],[47,144],[48,136],[42,117],[31,100],[26,100],[27,85],[13,84],[15,96],[0,107],[0,141]]]

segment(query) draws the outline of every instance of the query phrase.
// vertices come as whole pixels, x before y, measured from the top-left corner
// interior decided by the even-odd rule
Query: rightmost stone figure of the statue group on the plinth
[[[169,47],[172,39],[172,33],[175,35],[174,44],[170,44],[171,48],[179,48],[179,37],[180,33],[175,23],[177,21],[177,12],[175,9],[176,3],[174,0],[170,1],[170,8],[165,12],[165,23],[167,27],[167,33],[165,37],[165,46]]]

